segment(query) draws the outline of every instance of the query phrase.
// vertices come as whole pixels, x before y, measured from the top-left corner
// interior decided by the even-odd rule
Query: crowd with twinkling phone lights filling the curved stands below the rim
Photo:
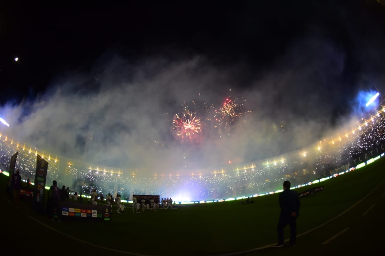
[[[311,156],[298,154],[296,158],[285,158],[282,161],[270,162],[254,168],[226,170],[222,173],[208,171],[202,175],[146,178],[110,175],[102,171],[75,168],[65,164],[60,166],[59,161],[50,159],[47,183],[60,179],[60,175],[66,173],[72,177],[71,180],[74,183],[69,184],[70,187],[77,191],[90,194],[96,189],[98,194],[117,193],[122,199],[130,199],[132,194],[147,194],[159,195],[162,198],[171,195],[175,200],[197,201],[268,193],[279,190],[284,180],[290,180],[292,186],[296,186],[321,178],[324,170],[334,168],[353,156],[373,148],[385,140],[384,125],[384,118],[379,115],[349,134],[332,138],[331,141],[320,141],[320,147]],[[32,181],[36,170],[36,156],[33,152],[20,150],[15,143],[0,140],[2,166],[9,165],[10,156],[15,151],[19,151],[17,168],[20,169],[23,177],[30,176]],[[303,170],[309,167],[310,162],[315,163],[315,170],[314,176],[309,177],[303,173]],[[64,168],[63,165],[65,165]]]

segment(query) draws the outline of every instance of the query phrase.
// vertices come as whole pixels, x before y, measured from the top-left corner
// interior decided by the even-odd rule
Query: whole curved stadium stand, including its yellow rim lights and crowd
[[[120,193],[124,198],[132,194],[172,196],[174,200],[218,199],[280,189],[283,180],[293,185],[329,176],[335,168],[349,168],[385,151],[385,108],[382,103],[374,108],[357,126],[343,130],[300,150],[271,158],[229,165],[218,169],[192,170],[191,173],[158,173],[151,178],[140,172],[107,166],[83,165],[81,161],[55,158],[47,153],[49,161],[47,184],[52,180],[65,183],[77,190],[99,193]],[[18,151],[17,168],[22,177],[33,180],[36,170],[34,148],[0,138],[1,165],[9,165],[10,157]],[[374,152],[373,152],[374,150]],[[5,168],[7,170],[7,168]],[[155,173],[158,173],[155,175]],[[79,191],[78,191],[79,193]]]

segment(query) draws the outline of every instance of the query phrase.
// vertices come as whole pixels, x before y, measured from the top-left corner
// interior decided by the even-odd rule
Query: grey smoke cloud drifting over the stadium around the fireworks
[[[1,131],[39,152],[141,176],[280,155],[355,121],[364,112],[357,111],[359,91],[376,86],[381,93],[383,34],[375,30],[363,40],[353,24],[336,27],[353,42],[350,48],[312,22],[266,65],[220,63],[179,46],[171,57],[162,50],[135,60],[109,48],[90,72],[63,70],[37,98],[3,104],[0,113],[10,127]],[[226,98],[243,98],[247,113],[220,130],[213,113]],[[212,109],[199,116],[198,139],[180,140],[174,115],[184,103],[193,110],[192,101]]]

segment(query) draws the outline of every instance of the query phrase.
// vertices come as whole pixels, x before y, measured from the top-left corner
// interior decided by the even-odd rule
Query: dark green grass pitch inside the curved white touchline
[[[385,179],[384,163],[381,158],[362,169],[299,188],[301,192],[324,186],[323,191],[301,198],[298,234],[334,218],[366,196]],[[27,209],[34,218],[84,241],[156,255],[221,254],[275,243],[279,211],[278,194],[254,198],[247,205],[237,200],[140,214],[127,208],[124,214],[113,211],[111,221],[101,223],[56,223]],[[288,238],[289,230],[285,231]]]

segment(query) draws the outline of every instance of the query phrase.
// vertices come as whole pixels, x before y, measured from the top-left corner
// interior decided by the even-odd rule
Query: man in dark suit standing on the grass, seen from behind
[[[297,227],[296,218],[300,216],[300,198],[295,190],[290,190],[290,181],[283,183],[283,192],[280,193],[280,219],[278,221],[278,244],[273,247],[283,246],[283,229],[289,224],[290,226],[290,242],[289,246],[295,246]]]

